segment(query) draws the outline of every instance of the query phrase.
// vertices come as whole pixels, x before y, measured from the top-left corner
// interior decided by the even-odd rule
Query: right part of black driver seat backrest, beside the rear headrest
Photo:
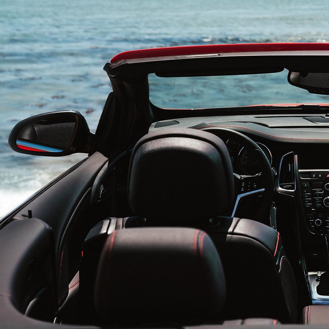
[[[206,231],[224,267],[227,319],[297,321],[296,282],[276,230],[250,219],[219,217]]]

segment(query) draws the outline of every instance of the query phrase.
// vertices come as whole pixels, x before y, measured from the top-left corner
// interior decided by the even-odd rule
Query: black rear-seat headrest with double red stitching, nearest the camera
[[[106,324],[216,320],[225,279],[215,245],[192,228],[114,231],[101,255],[94,301]]]

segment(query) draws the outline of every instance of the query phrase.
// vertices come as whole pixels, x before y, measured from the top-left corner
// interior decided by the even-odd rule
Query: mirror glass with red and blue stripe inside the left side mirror
[[[38,120],[25,126],[17,136],[19,148],[38,152],[63,152],[75,131],[76,118],[60,115]]]

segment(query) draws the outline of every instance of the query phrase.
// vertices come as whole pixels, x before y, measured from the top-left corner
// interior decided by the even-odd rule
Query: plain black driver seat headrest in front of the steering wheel
[[[189,128],[151,132],[137,142],[129,203],[146,218],[210,218],[233,209],[233,170],[224,142]]]

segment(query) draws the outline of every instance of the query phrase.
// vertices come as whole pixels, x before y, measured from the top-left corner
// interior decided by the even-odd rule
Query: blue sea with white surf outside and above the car
[[[329,42],[328,1],[0,0],[0,216],[85,155],[13,152],[21,119],[84,114],[95,131],[111,86],[104,64],[130,49]]]

